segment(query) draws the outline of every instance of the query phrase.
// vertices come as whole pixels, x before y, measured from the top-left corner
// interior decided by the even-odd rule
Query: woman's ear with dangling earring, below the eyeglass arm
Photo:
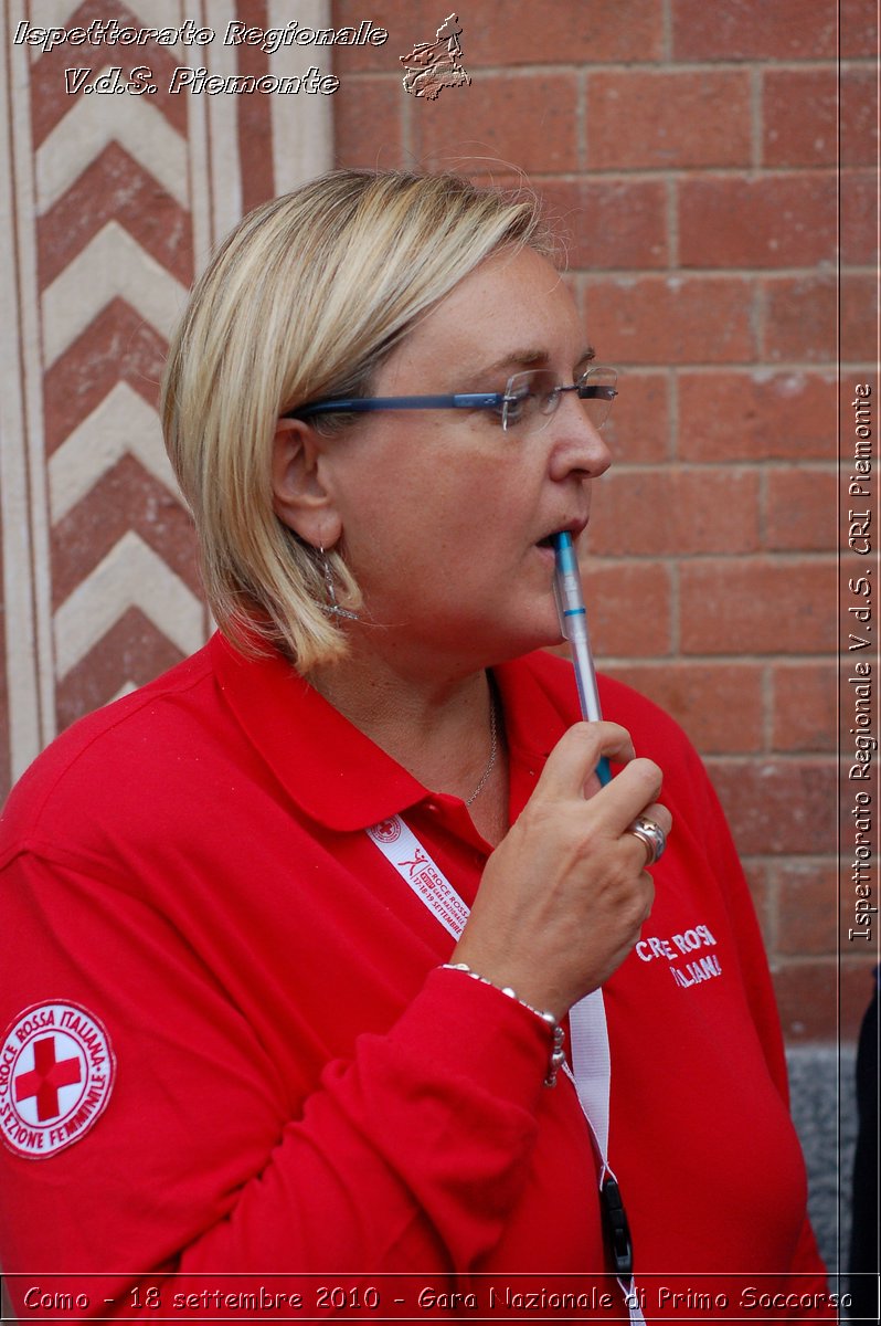
[[[280,419],[273,438],[273,509],[314,548],[333,548],[343,532],[321,464],[321,439],[302,419]]]

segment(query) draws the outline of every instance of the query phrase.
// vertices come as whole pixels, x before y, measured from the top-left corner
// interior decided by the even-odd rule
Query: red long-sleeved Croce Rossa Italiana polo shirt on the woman
[[[495,678],[515,818],[575,692],[546,654]],[[824,1276],[726,825],[670,719],[611,682],[603,703],[664,769],[674,821],[652,918],[605,987],[609,1155],[645,1315],[681,1317],[689,1293],[727,1296],[721,1317],[823,1315],[795,1301]],[[519,1319],[559,1318],[555,1290],[587,1296],[575,1315],[620,1311],[617,1292],[615,1309],[597,1298],[613,1281],[575,1091],[542,1086],[531,1013],[439,971],[454,941],[363,831],[397,813],[470,903],[490,849],[462,802],[280,656],[245,660],[220,636],[21,780],[0,822],[0,1262],[29,1273],[12,1282],[23,1317],[46,1268],[85,1315],[132,1311],[146,1286],[168,1315],[205,1315],[188,1296],[272,1274],[299,1284],[301,1314],[339,1307],[303,1273],[372,1277],[380,1319],[431,1314],[425,1285],[492,1317],[511,1292],[537,1296]],[[20,1050],[26,1034],[40,1050]],[[99,1094],[78,1097],[101,1048]]]

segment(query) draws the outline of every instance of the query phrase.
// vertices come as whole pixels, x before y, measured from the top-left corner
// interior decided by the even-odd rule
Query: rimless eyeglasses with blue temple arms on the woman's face
[[[595,428],[608,419],[617,395],[617,373],[597,365],[563,386],[548,369],[530,369],[507,379],[505,391],[460,392],[453,396],[352,396],[348,400],[313,400],[289,410],[285,419],[313,419],[326,414],[370,414],[376,410],[494,410],[505,432],[539,432],[556,411],[564,391],[575,391]]]

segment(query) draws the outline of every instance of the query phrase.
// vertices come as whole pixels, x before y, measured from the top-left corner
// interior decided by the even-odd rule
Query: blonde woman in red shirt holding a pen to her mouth
[[[164,426],[221,634],[3,823],[0,1254],[82,1273],[83,1314],[241,1315],[224,1277],[272,1273],[319,1315],[825,1307],[705,773],[621,686],[578,723],[535,652],[613,394],[551,256],[530,199],[339,172],[193,293]]]

